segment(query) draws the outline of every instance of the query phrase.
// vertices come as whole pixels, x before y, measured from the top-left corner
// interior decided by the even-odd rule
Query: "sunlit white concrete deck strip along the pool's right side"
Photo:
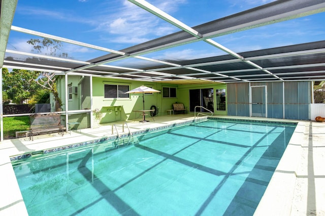
[[[325,122],[299,121],[254,215],[325,215]]]

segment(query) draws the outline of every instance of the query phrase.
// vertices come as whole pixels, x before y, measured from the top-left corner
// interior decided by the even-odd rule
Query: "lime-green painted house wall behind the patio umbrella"
[[[64,77],[60,79],[60,96],[64,97]],[[68,110],[90,109],[90,78],[76,75],[68,76],[68,86],[78,87],[78,93],[72,95],[72,99],[68,99]],[[105,98],[105,84],[121,84],[129,85],[129,90],[135,89],[140,85],[146,85],[149,88],[159,90],[160,93],[145,94],[145,109],[156,106],[157,115],[167,115],[167,110],[173,109],[173,103],[183,103],[185,107],[189,106],[189,90],[190,89],[226,89],[225,84],[205,84],[205,85],[178,85],[171,83],[154,83],[129,81],[112,78],[92,77],[92,109],[99,109],[103,113],[100,123],[112,122],[117,120],[133,120],[139,118],[139,113],[133,110],[143,109],[143,94],[129,94],[129,98]],[[61,86],[61,85],[60,85]],[[176,98],[164,98],[163,88],[176,88]],[[68,88],[68,87],[67,87]],[[63,91],[62,91],[63,90]],[[67,89],[68,91],[68,89]],[[69,94],[68,94],[69,98]],[[63,101],[63,100],[62,100]],[[63,105],[64,108],[64,105]],[[217,111],[217,114],[226,114],[226,111]],[[74,115],[69,116],[69,122]],[[86,118],[86,116],[84,116]],[[77,118],[76,121],[83,121]],[[88,125],[89,119],[84,120],[84,124]]]

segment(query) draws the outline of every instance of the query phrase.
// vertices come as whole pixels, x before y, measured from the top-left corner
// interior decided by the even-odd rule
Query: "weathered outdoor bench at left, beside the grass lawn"
[[[62,136],[64,134],[64,126],[61,125],[61,115],[59,113],[29,115],[29,140],[34,140],[34,134],[39,135],[55,131]]]

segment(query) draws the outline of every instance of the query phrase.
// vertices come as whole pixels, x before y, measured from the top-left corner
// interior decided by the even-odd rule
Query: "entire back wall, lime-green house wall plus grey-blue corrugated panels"
[[[129,81],[121,79],[111,79],[102,77],[68,76],[68,86],[77,87],[78,92],[68,99],[68,110],[90,109],[90,92],[92,92],[92,109],[99,109],[103,113],[101,123],[113,122],[117,120],[133,120],[139,118],[139,113],[133,110],[143,109],[143,94],[129,94],[128,98],[105,98],[105,84],[128,85],[129,90],[140,85],[163,91],[163,88],[176,88],[176,97],[164,98],[162,93],[145,94],[144,109],[156,106],[157,115],[167,115],[166,110],[173,109],[173,103],[183,103],[189,111],[189,91],[195,89],[213,89],[214,94],[214,114],[232,116],[251,116],[251,88],[263,86],[266,88],[267,97],[267,117],[307,120],[310,118],[311,84],[309,81],[295,82],[240,82],[240,83],[212,83],[212,84],[171,84],[142,81]],[[63,103],[64,76],[57,79],[59,95]],[[92,86],[92,90],[90,90]],[[216,110],[215,92],[218,89],[226,90],[226,110]],[[68,91],[68,90],[67,90]],[[69,98],[69,94],[68,94]],[[54,107],[54,103],[51,102]],[[63,105],[63,110],[64,110]],[[69,114],[70,115],[70,114]],[[83,119],[85,118],[85,119]],[[83,122],[84,126],[89,126],[90,120],[87,115],[79,115],[71,120]]]

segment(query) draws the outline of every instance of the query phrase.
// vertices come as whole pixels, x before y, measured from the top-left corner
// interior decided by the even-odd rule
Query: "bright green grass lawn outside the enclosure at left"
[[[4,139],[16,138],[16,131],[28,131],[29,116],[4,117]]]

